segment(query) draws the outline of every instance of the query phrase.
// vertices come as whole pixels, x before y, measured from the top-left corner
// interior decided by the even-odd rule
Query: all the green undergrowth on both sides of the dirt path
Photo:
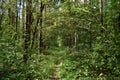
[[[0,80],[49,80],[54,74],[55,63],[60,58],[60,80],[114,80],[119,77],[119,64],[114,65],[114,55],[108,59],[98,50],[75,50],[51,47],[47,53],[32,53],[27,63],[23,52],[9,44],[2,45],[0,54]],[[21,48],[22,49],[22,48]],[[108,61],[106,63],[106,60]]]

